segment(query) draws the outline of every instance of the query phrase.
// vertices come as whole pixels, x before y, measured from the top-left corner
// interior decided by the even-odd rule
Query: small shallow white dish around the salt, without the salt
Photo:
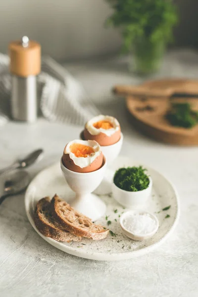
[[[148,215],[149,215],[152,219],[154,219],[155,222],[156,222],[156,228],[155,228],[152,232],[147,233],[147,234],[135,234],[135,233],[133,233],[133,232],[127,230],[127,229],[124,227],[124,225],[123,225],[123,221],[124,221],[124,219],[125,219],[127,216],[129,216],[129,215],[133,215],[133,214],[143,214],[143,213],[148,214]],[[157,230],[158,230],[158,228],[159,228],[159,221],[158,221],[157,217],[156,217],[154,214],[152,214],[152,213],[150,213],[150,212],[148,212],[148,211],[144,211],[144,210],[142,210],[142,211],[141,211],[141,210],[139,210],[139,211],[129,210],[129,211],[127,211],[127,212],[125,212],[125,213],[123,213],[123,214],[121,215],[121,217],[120,217],[120,226],[121,226],[121,228],[122,228],[123,233],[124,233],[127,237],[129,237],[129,238],[131,238],[131,239],[133,239],[133,240],[136,240],[136,241],[143,241],[143,240],[146,240],[146,239],[152,237],[152,236],[157,232]]]

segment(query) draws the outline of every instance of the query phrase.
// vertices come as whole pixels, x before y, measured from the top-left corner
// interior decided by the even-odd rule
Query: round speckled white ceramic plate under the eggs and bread
[[[71,194],[62,176],[59,162],[41,171],[29,185],[25,194],[25,208],[28,219],[37,233],[49,244],[69,254],[93,260],[123,260],[142,255],[161,244],[173,231],[179,216],[178,195],[173,185],[159,172],[145,166],[142,163],[134,162],[131,158],[118,157],[111,169],[114,171],[120,167],[142,165],[148,169],[148,174],[153,181],[152,196],[148,199],[144,209],[154,213],[159,220],[157,233],[148,240],[133,241],[122,233],[119,225],[119,216],[127,211],[119,205],[111,195],[100,196],[106,203],[106,217],[100,218],[100,223],[107,228],[107,221],[111,224],[108,228],[115,234],[109,234],[106,239],[93,241],[83,239],[82,242],[61,243],[43,236],[35,227],[33,216],[37,201],[45,196],[52,197],[55,193],[66,201]],[[68,201],[69,202],[69,201]],[[162,208],[171,205],[168,210]],[[143,207],[142,207],[143,208]],[[169,217],[165,218],[166,215]]]

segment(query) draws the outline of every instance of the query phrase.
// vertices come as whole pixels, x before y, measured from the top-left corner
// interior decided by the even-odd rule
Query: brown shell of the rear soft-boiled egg
[[[120,127],[119,127],[119,130],[116,131],[111,136],[107,136],[106,134],[104,134],[102,132],[100,132],[97,135],[92,135],[91,133],[89,133],[87,128],[85,128],[85,130],[84,130],[85,140],[95,140],[102,147],[114,145],[115,143],[117,143],[120,140],[120,137],[121,137]]]

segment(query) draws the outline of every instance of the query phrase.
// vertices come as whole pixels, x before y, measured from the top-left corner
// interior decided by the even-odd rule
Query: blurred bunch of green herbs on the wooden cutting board
[[[189,102],[175,102],[166,113],[166,119],[172,126],[192,128],[198,124],[198,111],[193,110]]]

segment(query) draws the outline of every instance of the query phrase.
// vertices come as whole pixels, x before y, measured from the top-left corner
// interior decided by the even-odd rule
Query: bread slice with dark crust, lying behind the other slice
[[[50,237],[61,242],[80,241],[77,237],[59,225],[50,213],[50,198],[46,197],[38,201],[34,222],[37,229],[46,237]]]

